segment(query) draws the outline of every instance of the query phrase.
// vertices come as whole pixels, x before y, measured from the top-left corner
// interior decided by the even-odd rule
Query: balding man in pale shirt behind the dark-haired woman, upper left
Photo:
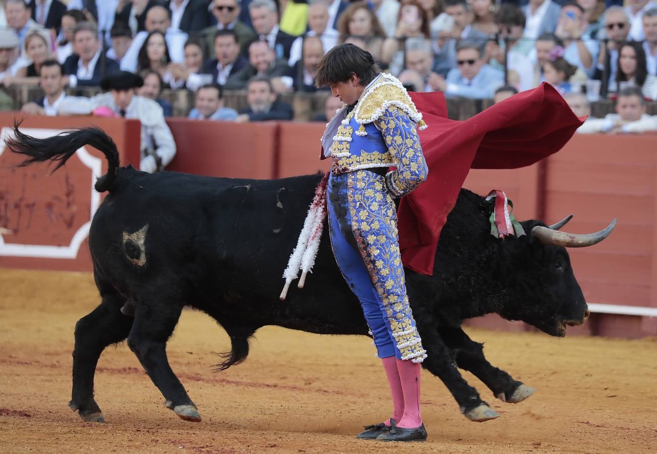
[[[171,11],[160,5],[155,5],[146,13],[145,26],[146,30],[135,35],[132,44],[125,52],[124,58],[121,59],[122,70],[137,72],[139,51],[146,42],[148,35],[152,32],[164,34],[164,40],[169,49],[171,61],[177,63],[185,62],[185,52],[183,49],[188,36],[181,30],[171,28]]]

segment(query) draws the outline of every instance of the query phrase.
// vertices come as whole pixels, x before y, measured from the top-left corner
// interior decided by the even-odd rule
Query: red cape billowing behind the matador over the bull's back
[[[409,93],[428,125],[420,143],[429,175],[399,204],[404,265],[432,275],[440,231],[468,171],[514,169],[560,150],[581,120],[552,85],[523,91],[459,122],[447,118],[443,93]]]

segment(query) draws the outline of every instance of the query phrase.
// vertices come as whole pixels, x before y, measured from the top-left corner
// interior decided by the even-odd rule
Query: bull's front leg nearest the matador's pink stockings
[[[447,386],[447,389],[459,404],[461,413],[466,418],[476,422],[484,422],[499,417],[499,413],[491,409],[481,399],[477,390],[472,388],[461,376],[449,348],[445,346],[438,331],[436,329],[422,329],[420,326],[418,330],[427,354],[422,366],[430,373],[438,376]]]

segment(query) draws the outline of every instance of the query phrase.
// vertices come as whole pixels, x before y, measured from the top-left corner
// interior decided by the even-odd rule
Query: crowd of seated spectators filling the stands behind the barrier
[[[129,72],[165,116],[168,88],[194,93],[190,118],[287,120],[279,95],[317,91],[317,64],[345,42],[407,89],[448,98],[499,101],[546,81],[587,102],[630,88],[657,99],[657,0],[0,3],[0,85],[40,85],[41,101],[13,106],[34,114],[61,113],[66,87]],[[225,90],[244,90],[248,108],[224,106]]]

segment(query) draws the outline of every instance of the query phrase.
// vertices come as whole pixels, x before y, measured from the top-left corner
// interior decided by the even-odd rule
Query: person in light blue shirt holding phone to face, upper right
[[[599,45],[597,41],[583,36],[586,28],[584,9],[579,3],[572,0],[564,2],[555,35],[564,43],[564,58],[591,77],[595,72]]]

